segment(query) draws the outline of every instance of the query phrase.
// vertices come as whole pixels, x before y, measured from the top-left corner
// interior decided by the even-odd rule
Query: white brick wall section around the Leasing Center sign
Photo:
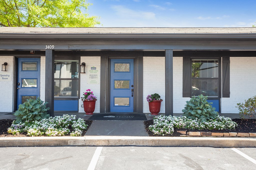
[[[100,57],[81,57],[80,62],[86,63],[85,70],[87,72],[87,67],[90,65],[100,66]],[[80,77],[81,77],[80,78],[80,97],[83,96],[83,92],[86,92],[86,89],[91,89],[91,91],[93,91],[94,96],[97,97],[95,110],[93,113],[100,113],[100,84],[87,84],[87,73],[80,74]],[[79,99],[79,105],[78,105],[79,112],[84,113],[84,110],[81,107],[81,104],[83,104],[83,102],[81,99]]]

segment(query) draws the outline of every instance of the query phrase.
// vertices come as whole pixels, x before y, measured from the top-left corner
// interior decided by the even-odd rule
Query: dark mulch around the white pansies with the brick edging
[[[237,128],[234,130],[200,130],[204,132],[240,132],[240,133],[256,133],[256,119],[232,119],[232,121],[238,124]],[[144,121],[145,128],[149,136],[163,136],[163,135],[154,135],[150,130],[148,130],[149,125],[153,125],[153,120]],[[184,128],[178,129],[174,128],[174,133],[165,135],[165,136],[180,136],[181,134],[177,132],[177,130],[186,130]],[[190,132],[197,132],[199,130],[191,130],[187,129]]]

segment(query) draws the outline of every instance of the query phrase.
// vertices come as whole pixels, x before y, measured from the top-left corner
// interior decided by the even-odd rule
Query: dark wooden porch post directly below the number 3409
[[[45,50],[45,101],[48,113],[54,116],[54,50]]]

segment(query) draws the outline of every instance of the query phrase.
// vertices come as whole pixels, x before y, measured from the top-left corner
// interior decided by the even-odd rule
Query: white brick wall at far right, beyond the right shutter
[[[236,103],[256,95],[256,57],[230,57],[230,98],[221,99],[221,113],[238,113]]]

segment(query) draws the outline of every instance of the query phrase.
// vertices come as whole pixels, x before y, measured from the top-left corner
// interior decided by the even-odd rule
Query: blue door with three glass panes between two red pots
[[[110,60],[110,112],[133,112],[133,62]]]

